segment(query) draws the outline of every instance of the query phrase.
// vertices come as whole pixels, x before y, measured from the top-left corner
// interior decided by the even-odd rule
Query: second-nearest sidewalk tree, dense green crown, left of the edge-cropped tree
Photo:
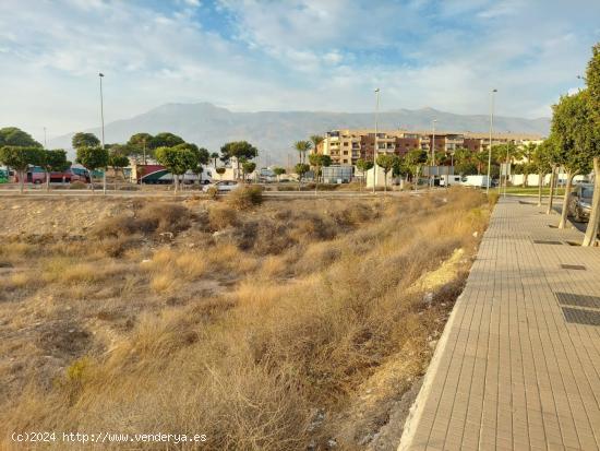
[[[557,163],[566,170],[566,187],[559,228],[566,226],[568,203],[573,177],[590,169],[591,155],[589,149],[593,145],[593,122],[589,119],[589,104],[586,92],[572,96],[563,96],[553,106],[552,133],[556,137]]]

